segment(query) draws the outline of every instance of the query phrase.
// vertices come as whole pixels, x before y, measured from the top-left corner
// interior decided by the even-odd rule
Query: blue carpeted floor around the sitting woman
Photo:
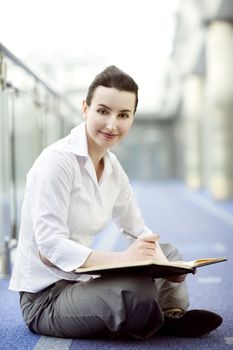
[[[52,338],[49,350],[89,349],[230,349],[233,347],[232,202],[215,203],[200,192],[181,183],[135,182],[136,197],[146,223],[159,232],[162,242],[177,246],[185,260],[226,256],[228,262],[200,268],[187,277],[190,308],[208,309],[222,315],[224,322],[208,337],[179,339],[154,337],[147,341],[72,340],[65,347]],[[117,249],[125,246],[119,235]],[[42,338],[30,333],[23,323],[18,295],[7,290],[8,281],[0,280],[0,350],[40,348]],[[45,339],[46,340],[46,339]],[[45,348],[44,348],[45,349]],[[47,349],[46,349],[47,350]]]

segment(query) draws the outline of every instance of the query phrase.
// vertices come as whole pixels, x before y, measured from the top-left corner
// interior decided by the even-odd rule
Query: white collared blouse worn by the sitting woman
[[[124,170],[110,151],[98,182],[82,123],[47,147],[27,174],[9,288],[38,292],[61,279],[82,279],[72,271],[85,262],[95,235],[111,219],[136,235],[151,232]],[[45,265],[39,251],[56,267]]]

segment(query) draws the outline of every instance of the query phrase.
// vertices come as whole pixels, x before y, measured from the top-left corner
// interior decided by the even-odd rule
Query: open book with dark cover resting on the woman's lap
[[[75,272],[88,275],[102,276],[147,276],[153,278],[168,277],[195,273],[202,266],[227,261],[226,258],[205,258],[193,261],[159,262],[154,259],[137,261],[133,263],[118,263],[99,265],[91,268],[77,268]]]

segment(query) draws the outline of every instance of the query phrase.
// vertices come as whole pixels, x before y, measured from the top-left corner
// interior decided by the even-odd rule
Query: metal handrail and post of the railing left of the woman
[[[43,75],[41,73],[36,72],[35,69],[32,69],[31,67],[29,67],[28,64],[25,64],[21,59],[19,59],[17,56],[15,56],[8,48],[6,48],[1,43],[0,43],[0,93],[1,93],[1,91],[2,92],[14,91],[15,98],[17,98],[19,90],[20,90],[20,88],[14,86],[14,81],[10,82],[7,80],[8,79],[8,65],[9,64],[13,65],[14,67],[17,67],[17,69],[19,69],[21,74],[23,74],[25,77],[27,77],[27,78],[29,77],[30,79],[32,79],[32,81],[34,82],[34,85],[40,86],[40,88],[43,89],[43,92],[46,92],[46,94],[49,94],[50,96],[52,96],[56,100],[56,103],[59,102],[61,107],[63,107],[63,109],[65,108],[65,110],[68,111],[67,114],[78,116],[79,111],[72,105],[72,103],[67,99],[66,96],[64,96],[61,92],[57,91],[52,86],[52,84],[45,77],[43,77]],[[34,97],[35,96],[29,97],[29,98],[31,98],[31,100],[35,103]],[[1,102],[2,101],[0,101],[0,103]],[[7,102],[9,102],[9,101],[7,101]],[[33,104],[33,102],[31,102],[31,104]],[[71,123],[70,120],[67,121],[68,118],[66,119],[66,115],[64,115],[64,113],[61,116],[61,115],[57,115],[55,112],[56,111],[53,111],[55,118],[60,119],[61,123],[67,123],[67,122],[68,122],[68,124]],[[8,118],[8,115],[4,116],[4,108],[0,108],[0,113],[3,113],[3,115],[0,115],[0,123],[2,123],[2,124],[8,123],[9,118]],[[17,111],[16,111],[16,113],[17,113]],[[61,121],[61,119],[62,119],[62,121]],[[73,125],[70,125],[70,126],[72,127]],[[4,164],[5,157],[9,156],[11,158],[11,159],[9,159],[9,164],[8,164],[10,169],[11,169],[10,170],[10,177],[11,178],[9,180],[7,180],[7,184],[11,183],[11,189],[9,189],[9,197],[11,196],[11,199],[9,198],[9,203],[7,203],[7,205],[9,206],[9,208],[7,210],[11,211],[11,212],[9,214],[9,217],[4,218],[4,215],[5,215],[4,200],[5,200],[5,198],[3,198],[3,196],[2,196],[2,198],[3,198],[2,203],[3,204],[0,207],[0,210],[2,208],[2,213],[0,213],[1,214],[0,221],[1,221],[1,217],[2,217],[3,218],[2,222],[4,220],[10,220],[11,223],[10,223],[10,229],[6,230],[7,232],[4,231],[3,224],[2,224],[2,227],[0,226],[0,229],[3,232],[2,233],[2,240],[1,240],[1,232],[0,232],[0,276],[4,276],[4,277],[9,276],[11,273],[11,252],[12,252],[12,249],[17,246],[17,235],[16,235],[17,222],[15,222],[17,220],[16,220],[15,213],[17,212],[16,207],[18,205],[16,203],[16,201],[17,201],[17,198],[16,198],[16,190],[17,190],[16,186],[17,186],[17,184],[16,184],[16,175],[15,175],[15,164],[13,164],[13,163],[15,163],[15,157],[17,157],[17,155],[15,155],[15,152],[14,152],[14,149],[15,149],[15,147],[17,147],[17,145],[12,144],[12,141],[14,141],[15,135],[11,135],[12,130],[9,131],[7,128],[8,128],[8,126],[4,127],[4,125],[3,125],[2,130],[3,130],[3,132],[4,132],[4,130],[7,130],[9,132],[9,140],[7,140],[7,144],[10,145],[9,146],[10,151],[9,151],[8,155],[5,155],[5,154],[2,155],[1,160],[2,160],[2,165],[4,167],[5,166],[5,164]],[[11,125],[11,128],[12,128],[12,125]],[[13,133],[14,133],[14,130],[13,130]],[[4,141],[2,141],[2,142],[4,142]],[[2,148],[4,148],[4,147],[2,147]],[[4,150],[2,150],[2,152],[4,152]],[[0,150],[0,153],[1,153],[1,150]],[[0,157],[1,157],[1,154],[0,154]],[[6,175],[4,175],[4,176],[6,178]],[[0,181],[1,181],[1,178],[0,178]],[[12,191],[14,192],[13,197],[12,197],[12,194],[10,195],[10,192],[12,192]],[[12,205],[12,202],[14,202],[13,205]],[[13,212],[13,214],[12,214],[12,212]],[[12,219],[12,216],[14,217],[13,219]],[[9,225],[7,225],[7,226],[9,226]]]

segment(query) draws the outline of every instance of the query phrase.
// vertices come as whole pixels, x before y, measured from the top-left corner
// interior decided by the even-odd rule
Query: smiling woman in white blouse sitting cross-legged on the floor
[[[189,337],[222,321],[208,311],[186,312],[184,276],[153,281],[74,273],[81,266],[161,255],[158,236],[145,226],[128,178],[109,151],[130,130],[137,103],[134,80],[107,67],[88,89],[84,122],[46,148],[27,175],[10,289],[20,292],[22,314],[33,332],[71,338],[148,338],[156,332]],[[110,219],[138,238],[122,252],[91,249],[93,237]],[[180,259],[174,247],[161,246],[167,259]]]

